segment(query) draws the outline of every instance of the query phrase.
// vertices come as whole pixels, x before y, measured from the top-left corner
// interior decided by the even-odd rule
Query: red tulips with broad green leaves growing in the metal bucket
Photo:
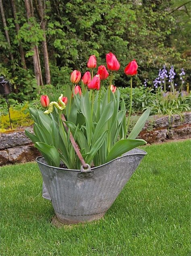
[[[48,164],[59,167],[62,161],[69,169],[80,169],[81,162],[71,144],[70,133],[85,162],[91,166],[99,166],[146,144],[143,139],[136,137],[149,116],[149,109],[142,114],[127,137],[132,105],[132,76],[137,74],[137,63],[133,60],[133,65],[130,62],[125,69],[125,73],[131,76],[131,104],[127,124],[125,102],[112,84],[112,74],[120,68],[120,64],[112,53],[106,54],[106,63],[110,70],[110,82],[106,91],[102,89],[102,80],[108,77],[108,71],[102,65],[98,68],[98,74],[93,77],[96,57],[90,56],[87,66],[91,69],[91,81],[89,73],[86,73],[80,87],[77,83],[81,73],[73,71],[72,89],[69,85],[66,86],[57,102],[50,102],[44,112],[29,109],[35,122],[35,134],[27,130],[25,133]],[[43,106],[46,106],[48,96],[42,96],[42,99]]]

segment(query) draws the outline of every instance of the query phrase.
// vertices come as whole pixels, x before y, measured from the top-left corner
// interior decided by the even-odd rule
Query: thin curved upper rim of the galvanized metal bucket
[[[133,149],[140,150],[140,152],[137,152],[137,153],[129,153],[129,154],[128,154],[128,152],[127,152],[127,154],[125,153],[125,154],[123,154],[122,156],[119,156],[119,157],[117,157],[117,158],[115,158],[115,159],[113,159],[113,160],[111,160],[111,161],[109,161],[109,162],[106,162],[105,164],[102,164],[102,165],[99,165],[99,166],[96,166],[96,167],[91,168],[91,170],[96,170],[96,169],[98,169],[98,168],[100,168],[100,167],[102,167],[102,166],[104,166],[104,165],[106,165],[106,164],[109,164],[110,162],[113,162],[113,161],[115,161],[115,160],[117,160],[117,159],[120,159],[120,158],[123,158],[123,157],[125,157],[125,156],[133,156],[133,155],[143,155],[143,156],[145,156],[145,155],[147,154],[147,152],[146,152],[145,150],[142,150],[141,148],[133,148]],[[130,151],[131,151],[131,150],[129,150],[129,152],[130,152]],[[62,170],[62,171],[77,171],[77,172],[81,171],[80,169],[79,169],[79,170],[77,170],[77,169],[64,169],[64,168],[55,167],[55,166],[52,166],[52,165],[49,165],[49,164],[45,164],[45,163],[39,161],[39,159],[42,159],[42,158],[44,158],[44,157],[43,157],[43,156],[37,156],[37,158],[36,158],[35,160],[36,160],[36,162],[39,163],[39,164],[42,164],[42,165],[45,165],[45,166],[47,166],[47,167],[51,167],[51,168],[54,168],[54,169]]]

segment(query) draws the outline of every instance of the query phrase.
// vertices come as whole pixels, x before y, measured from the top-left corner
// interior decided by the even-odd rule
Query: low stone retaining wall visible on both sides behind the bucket
[[[26,129],[33,131],[32,127]],[[173,115],[170,120],[168,116],[152,116],[146,122],[139,138],[145,139],[149,144],[191,138],[191,112],[185,112],[182,119],[179,115]],[[34,161],[40,155],[25,135],[24,129],[1,133],[0,165]]]

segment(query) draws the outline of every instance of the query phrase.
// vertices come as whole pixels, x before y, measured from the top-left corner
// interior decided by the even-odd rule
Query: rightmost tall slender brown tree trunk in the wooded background
[[[41,28],[44,32],[44,41],[42,41],[42,50],[44,55],[44,67],[45,67],[45,75],[46,75],[46,84],[50,84],[50,67],[49,67],[49,59],[48,59],[48,49],[46,44],[46,20],[44,19],[44,12],[46,8],[46,4],[44,4],[44,8],[42,5],[42,0],[38,0],[39,3],[39,16],[41,18]]]

